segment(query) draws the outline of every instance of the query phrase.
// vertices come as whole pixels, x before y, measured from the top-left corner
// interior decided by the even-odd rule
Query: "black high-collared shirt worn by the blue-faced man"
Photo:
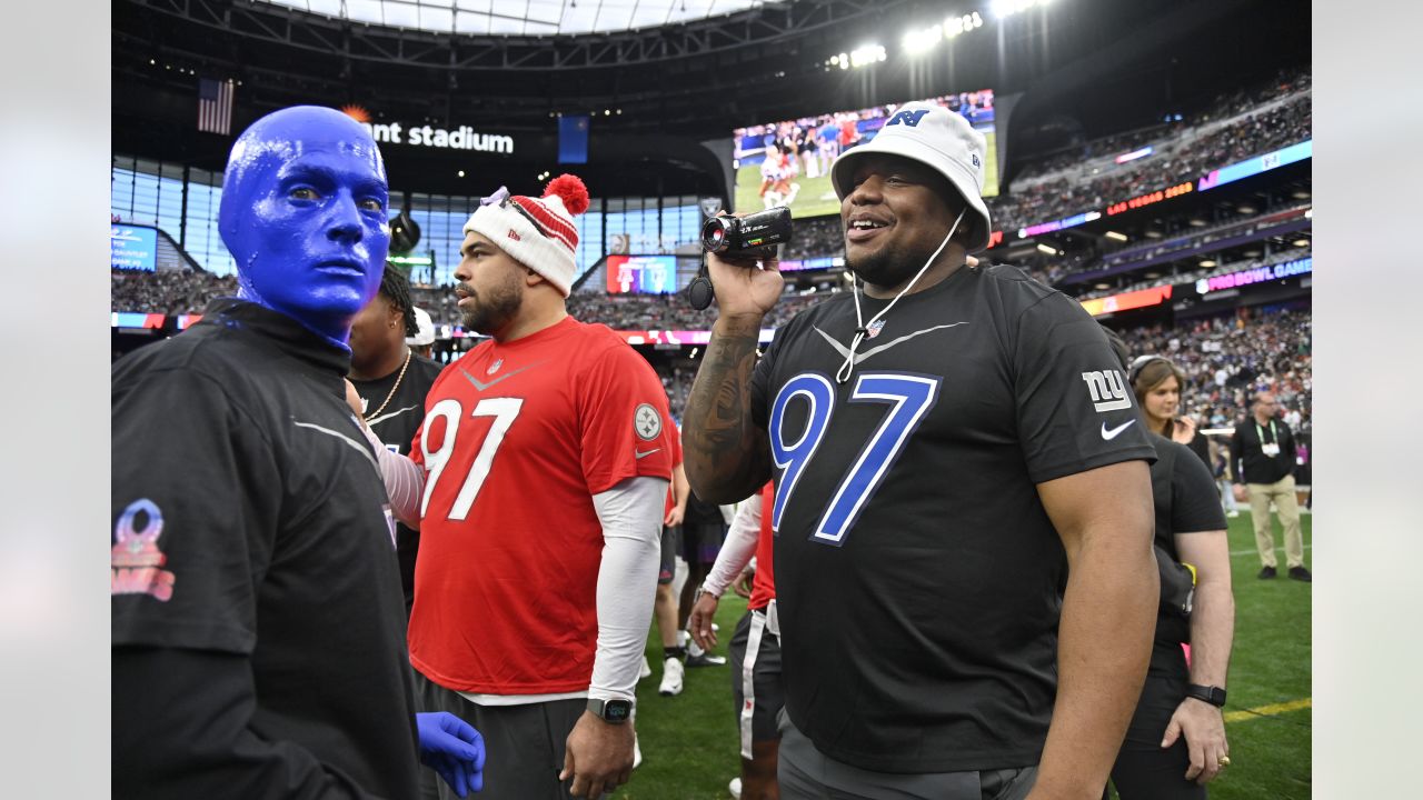
[[[233,299],[114,364],[114,797],[417,796],[393,525],[347,366]]]

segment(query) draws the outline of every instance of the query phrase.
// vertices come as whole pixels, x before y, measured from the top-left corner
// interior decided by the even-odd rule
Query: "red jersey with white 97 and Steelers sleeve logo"
[[[588,689],[603,532],[593,495],[672,477],[676,430],[647,362],[572,317],[484,342],[425,397],[410,663],[481,695]]]

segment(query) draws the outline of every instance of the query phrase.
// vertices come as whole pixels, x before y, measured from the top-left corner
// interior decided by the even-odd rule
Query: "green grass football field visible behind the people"
[[[1281,577],[1261,581],[1249,511],[1229,521],[1235,588],[1235,648],[1231,656],[1229,703],[1225,706],[1231,762],[1211,783],[1212,800],[1292,800],[1311,791],[1311,586]],[[1305,547],[1311,517],[1302,518]],[[1275,522],[1275,544],[1284,540]],[[1311,551],[1305,564],[1313,568]],[[746,601],[727,592],[717,609],[726,655]],[[727,781],[739,774],[736,709],[729,666],[689,669],[676,698],[657,695],[662,648],[649,632],[652,676],[638,685],[638,739],[643,763],[632,781],[612,794],[620,800],[727,799]]]

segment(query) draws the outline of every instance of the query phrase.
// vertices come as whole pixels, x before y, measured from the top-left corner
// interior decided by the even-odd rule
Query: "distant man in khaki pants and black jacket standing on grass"
[[[1275,413],[1275,396],[1255,396],[1251,416],[1235,426],[1231,458],[1237,480],[1249,491],[1251,517],[1255,521],[1255,547],[1259,548],[1261,578],[1275,577],[1275,537],[1271,530],[1269,504],[1279,511],[1285,527],[1285,562],[1289,577],[1311,581],[1305,569],[1305,542],[1299,534],[1299,504],[1295,500],[1295,436]]]

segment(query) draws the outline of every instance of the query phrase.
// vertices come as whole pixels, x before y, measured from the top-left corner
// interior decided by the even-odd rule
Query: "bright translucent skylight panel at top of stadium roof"
[[[700,21],[776,0],[262,0],[324,17],[451,34],[579,36]]]

